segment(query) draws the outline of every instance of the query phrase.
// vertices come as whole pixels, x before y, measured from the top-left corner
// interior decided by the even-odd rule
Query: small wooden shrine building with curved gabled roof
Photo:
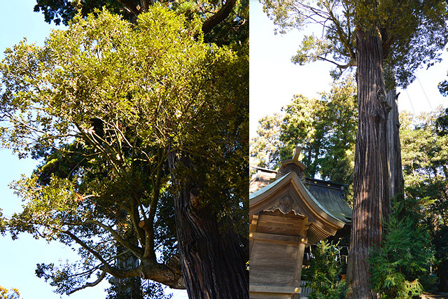
[[[335,235],[351,223],[344,185],[304,177],[293,159],[279,172],[258,169],[249,196],[249,297],[300,298],[305,246]]]

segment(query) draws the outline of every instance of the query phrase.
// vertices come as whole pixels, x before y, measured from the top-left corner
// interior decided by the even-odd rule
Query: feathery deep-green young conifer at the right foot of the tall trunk
[[[380,298],[412,298],[423,293],[419,277],[434,261],[430,235],[405,205],[394,202],[381,249],[369,258],[372,288]]]

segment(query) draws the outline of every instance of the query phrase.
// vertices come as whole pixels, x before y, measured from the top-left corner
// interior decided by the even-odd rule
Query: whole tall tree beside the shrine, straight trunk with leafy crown
[[[379,246],[382,219],[390,210],[384,60],[406,85],[421,64],[437,59],[447,36],[444,1],[263,1],[281,31],[309,23],[321,25],[321,38],[305,36],[293,62],[324,60],[333,74],[357,67],[358,133],[353,174],[354,205],[347,277],[349,298],[375,298],[370,290],[367,255]]]

